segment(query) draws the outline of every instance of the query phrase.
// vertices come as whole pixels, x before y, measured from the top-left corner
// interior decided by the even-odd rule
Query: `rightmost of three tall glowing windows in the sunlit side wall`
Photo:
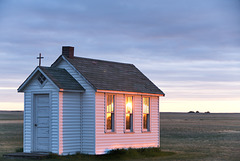
[[[150,131],[149,97],[143,97],[143,130]]]

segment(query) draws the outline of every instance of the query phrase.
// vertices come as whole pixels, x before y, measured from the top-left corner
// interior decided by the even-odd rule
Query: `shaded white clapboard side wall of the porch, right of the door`
[[[80,152],[80,93],[60,92],[59,147],[62,155]]]

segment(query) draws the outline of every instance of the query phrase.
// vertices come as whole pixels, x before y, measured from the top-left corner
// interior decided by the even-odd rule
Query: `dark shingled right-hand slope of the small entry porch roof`
[[[39,67],[59,89],[84,90],[84,88],[65,70],[54,67]]]

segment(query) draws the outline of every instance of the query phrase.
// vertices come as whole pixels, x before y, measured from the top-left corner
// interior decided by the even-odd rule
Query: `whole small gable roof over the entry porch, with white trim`
[[[25,86],[38,71],[52,81],[59,90],[85,90],[65,69],[38,66],[18,88],[18,92],[24,91]]]

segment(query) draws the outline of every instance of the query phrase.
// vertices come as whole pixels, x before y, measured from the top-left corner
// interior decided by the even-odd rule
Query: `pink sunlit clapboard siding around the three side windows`
[[[133,95],[134,133],[125,133],[125,95],[116,94],[115,133],[105,133],[104,93],[96,93],[96,154],[116,148],[159,146],[158,97],[151,97],[151,132],[142,132],[142,96]]]

